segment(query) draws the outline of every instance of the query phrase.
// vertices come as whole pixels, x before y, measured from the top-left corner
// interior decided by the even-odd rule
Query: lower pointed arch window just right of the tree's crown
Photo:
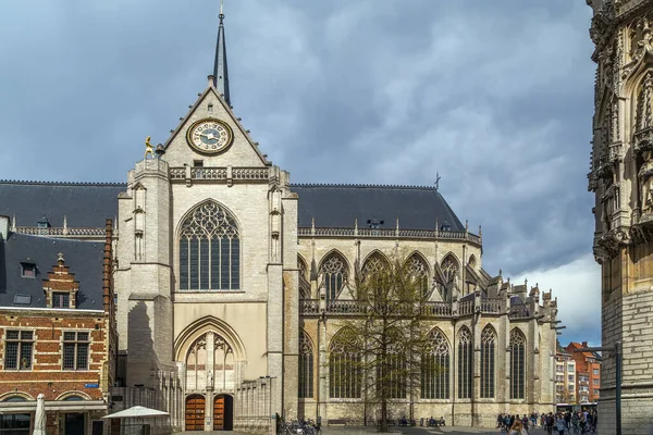
[[[435,328],[429,333],[429,350],[421,358],[421,398],[449,398],[449,345]]]

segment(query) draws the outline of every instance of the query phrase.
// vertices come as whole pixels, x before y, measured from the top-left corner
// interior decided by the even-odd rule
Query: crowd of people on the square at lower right
[[[533,412],[530,418],[527,414],[520,417],[498,414],[496,419],[497,427],[507,432],[509,435],[527,435],[529,427],[540,425],[549,435],[553,435],[554,431],[558,435],[566,434],[591,434],[596,427],[596,411],[577,411],[577,412],[553,412],[538,414]]]

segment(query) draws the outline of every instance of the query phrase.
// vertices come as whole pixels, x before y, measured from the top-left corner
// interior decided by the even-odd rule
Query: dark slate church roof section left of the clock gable
[[[0,215],[17,226],[36,226],[46,216],[53,227],[103,227],[118,214],[120,183],[49,183],[0,181]]]

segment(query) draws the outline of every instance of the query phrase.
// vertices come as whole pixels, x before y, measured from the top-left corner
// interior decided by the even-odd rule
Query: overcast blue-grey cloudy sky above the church
[[[0,178],[124,182],[211,73],[218,0],[0,3]],[[584,1],[226,0],[234,111],[294,183],[433,185],[600,343]]]

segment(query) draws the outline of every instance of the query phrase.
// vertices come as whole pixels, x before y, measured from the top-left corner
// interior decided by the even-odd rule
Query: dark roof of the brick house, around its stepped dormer
[[[45,308],[44,279],[63,253],[75,281],[79,282],[77,308],[102,310],[102,260],[104,244],[10,233],[0,241],[0,307]],[[21,263],[36,264],[36,277],[22,277]],[[15,304],[15,295],[30,296],[29,304]]]

